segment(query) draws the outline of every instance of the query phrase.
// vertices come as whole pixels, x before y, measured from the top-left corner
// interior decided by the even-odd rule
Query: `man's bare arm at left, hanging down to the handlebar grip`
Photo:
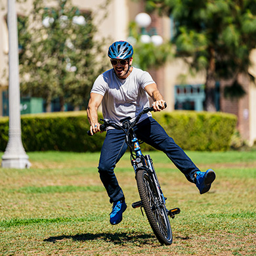
[[[88,121],[91,125],[90,131],[91,135],[93,133],[97,133],[100,131],[100,123],[98,123],[98,107],[100,106],[100,103],[102,102],[102,95],[99,95],[98,93],[91,93],[89,104],[87,107],[87,117]]]

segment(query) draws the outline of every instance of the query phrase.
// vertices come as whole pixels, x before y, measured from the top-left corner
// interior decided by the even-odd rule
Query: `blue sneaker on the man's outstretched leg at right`
[[[211,183],[215,180],[215,172],[212,169],[207,171],[197,171],[196,172],[196,186],[198,187],[200,194],[206,193],[211,188]]]

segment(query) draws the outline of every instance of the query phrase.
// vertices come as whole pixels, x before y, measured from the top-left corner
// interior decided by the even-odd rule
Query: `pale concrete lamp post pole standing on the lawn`
[[[20,125],[20,81],[18,72],[18,29],[15,0],[8,0],[9,28],[9,141],[1,166],[4,168],[29,168],[21,140]]]

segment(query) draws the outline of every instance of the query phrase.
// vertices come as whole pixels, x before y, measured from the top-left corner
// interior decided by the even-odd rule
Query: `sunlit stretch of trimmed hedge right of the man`
[[[222,112],[174,111],[154,115],[184,150],[224,151],[236,129],[237,117]]]

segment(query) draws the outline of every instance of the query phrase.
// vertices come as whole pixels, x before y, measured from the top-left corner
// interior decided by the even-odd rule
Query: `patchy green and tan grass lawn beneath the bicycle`
[[[128,204],[116,226],[98,153],[31,152],[30,169],[0,168],[0,255],[256,255],[256,152],[187,153],[215,170],[210,192],[200,195],[163,153],[150,152],[167,207],[181,208],[169,246],[131,207],[139,194],[129,154],[116,168]]]

